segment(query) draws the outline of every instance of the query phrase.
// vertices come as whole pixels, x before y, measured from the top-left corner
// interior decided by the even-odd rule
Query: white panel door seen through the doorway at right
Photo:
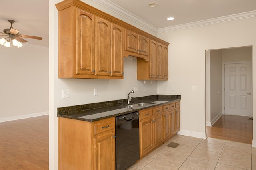
[[[224,67],[225,114],[252,116],[252,63]]]

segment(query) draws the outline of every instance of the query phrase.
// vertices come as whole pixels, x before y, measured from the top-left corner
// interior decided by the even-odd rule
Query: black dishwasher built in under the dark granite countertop
[[[140,159],[139,112],[116,117],[116,170]]]

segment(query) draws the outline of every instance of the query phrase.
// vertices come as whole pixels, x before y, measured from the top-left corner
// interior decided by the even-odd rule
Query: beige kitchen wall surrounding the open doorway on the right
[[[255,29],[256,17],[158,34],[159,38],[170,42],[170,77],[168,81],[158,81],[158,93],[182,95],[179,134],[206,137],[205,50],[252,46],[252,65],[253,72],[255,72]],[[256,89],[255,80],[256,77],[253,77],[254,90]],[[174,91],[171,90],[172,85],[176,87]],[[197,91],[192,91],[194,85],[197,86]],[[255,96],[253,98],[253,105],[256,105]],[[253,112],[253,115],[256,116],[256,111]],[[255,146],[256,126],[253,131]]]

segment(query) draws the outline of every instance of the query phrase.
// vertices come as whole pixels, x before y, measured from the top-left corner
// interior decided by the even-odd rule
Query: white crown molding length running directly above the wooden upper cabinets
[[[153,26],[152,24],[146,22],[145,20],[142,20],[138,16],[128,12],[124,8],[121,8],[120,6],[114,4],[113,2],[110,2],[108,0],[92,0],[93,2],[96,2],[97,4],[100,4],[101,6],[104,6],[105,8],[108,8],[109,10],[112,10],[113,12],[119,14],[120,16],[123,16],[124,18],[127,18],[128,20],[131,20],[132,22],[135,22],[136,24],[141,25],[144,28],[147,28],[148,30],[158,33],[158,28],[156,26]]]

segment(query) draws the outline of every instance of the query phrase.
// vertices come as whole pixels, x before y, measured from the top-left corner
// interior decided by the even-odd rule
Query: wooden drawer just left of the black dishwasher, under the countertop
[[[96,135],[96,134],[100,134],[102,132],[113,130],[114,128],[115,128],[115,120],[114,121],[100,121],[99,123],[95,123],[93,125],[93,132],[94,132],[94,135]]]

